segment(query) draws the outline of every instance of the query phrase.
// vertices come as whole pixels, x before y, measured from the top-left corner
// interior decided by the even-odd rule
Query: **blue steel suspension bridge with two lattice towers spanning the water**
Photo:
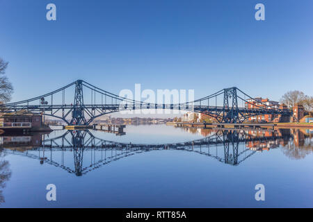
[[[65,89],[74,87],[74,93]],[[73,91],[73,90],[72,90]],[[89,96],[86,102],[86,92]],[[67,95],[66,94],[66,95]],[[99,87],[90,85],[83,80],[65,85],[53,92],[36,96],[32,99],[0,105],[0,112],[28,112],[44,114],[62,119],[68,125],[89,125],[95,118],[104,114],[125,110],[168,109],[200,112],[214,117],[219,123],[242,123],[256,115],[276,114],[290,116],[290,110],[280,110],[265,103],[256,101],[253,109],[247,108],[248,103],[256,101],[237,87],[222,89],[214,94],[186,103],[157,104],[127,99]]]

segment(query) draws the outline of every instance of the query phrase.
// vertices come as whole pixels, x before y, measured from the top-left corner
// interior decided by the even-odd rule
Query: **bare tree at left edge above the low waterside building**
[[[6,74],[6,67],[8,67],[8,62],[5,62],[0,58],[0,102],[7,103],[11,99],[13,93],[13,86],[9,82]]]

